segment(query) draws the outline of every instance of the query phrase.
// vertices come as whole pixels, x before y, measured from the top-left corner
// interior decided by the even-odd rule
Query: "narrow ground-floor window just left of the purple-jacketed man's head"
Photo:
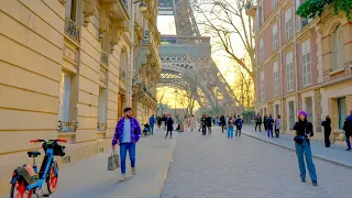
[[[107,109],[108,109],[108,91],[106,88],[99,88],[99,106],[98,106],[98,131],[107,130]]]

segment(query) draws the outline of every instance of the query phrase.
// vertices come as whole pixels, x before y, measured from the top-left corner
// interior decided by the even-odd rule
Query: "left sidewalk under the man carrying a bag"
[[[141,138],[136,145],[136,176],[132,177],[128,157],[127,180],[119,182],[120,168],[107,170],[111,152],[107,151],[61,170],[57,190],[51,198],[160,198],[177,133],[172,140],[164,138],[165,131],[157,129],[154,135]],[[44,189],[46,193],[46,186]],[[41,194],[42,190],[38,195],[43,197]]]

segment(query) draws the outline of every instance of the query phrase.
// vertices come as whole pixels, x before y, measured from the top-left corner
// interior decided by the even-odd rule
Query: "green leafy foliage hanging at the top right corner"
[[[321,15],[330,4],[333,6],[336,14],[342,11],[348,20],[351,20],[352,0],[306,0],[298,7],[296,14],[305,19],[315,18]]]

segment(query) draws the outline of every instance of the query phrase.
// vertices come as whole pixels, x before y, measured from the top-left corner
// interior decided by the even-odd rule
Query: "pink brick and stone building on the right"
[[[280,114],[283,131],[293,133],[304,109],[322,140],[321,121],[332,118],[334,143],[352,109],[352,22],[328,7],[321,16],[295,14],[301,0],[258,0],[248,10],[254,18],[256,43],[256,110]]]

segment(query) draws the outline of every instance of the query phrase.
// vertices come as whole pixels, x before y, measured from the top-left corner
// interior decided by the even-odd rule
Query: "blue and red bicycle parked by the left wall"
[[[11,191],[10,198],[31,198],[32,195],[36,194],[36,190],[43,189],[46,183],[48,194],[43,195],[48,197],[56,190],[57,178],[58,178],[58,167],[55,156],[65,156],[65,146],[59,145],[58,142],[67,142],[64,139],[57,140],[32,140],[31,143],[43,142],[42,147],[45,152],[44,160],[40,172],[37,172],[37,166],[35,164],[35,157],[41,155],[38,151],[28,152],[29,157],[33,158],[33,165],[19,166],[12,173],[11,179]]]

